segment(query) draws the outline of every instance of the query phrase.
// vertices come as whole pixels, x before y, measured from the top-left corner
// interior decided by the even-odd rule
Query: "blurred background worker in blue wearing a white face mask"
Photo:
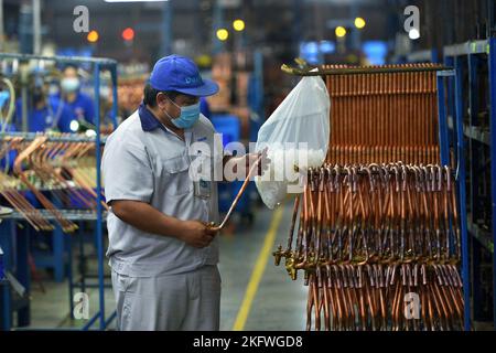
[[[77,68],[68,65],[64,68],[61,79],[61,94],[57,95],[71,108],[73,115],[79,125],[91,128],[95,125],[95,105],[91,97],[80,92],[80,81],[77,75]]]

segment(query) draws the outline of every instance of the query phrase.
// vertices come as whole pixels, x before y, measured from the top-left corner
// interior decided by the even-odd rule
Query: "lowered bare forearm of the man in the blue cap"
[[[142,232],[171,237],[181,235],[183,221],[168,216],[148,203],[114,201],[111,207],[117,217]]]

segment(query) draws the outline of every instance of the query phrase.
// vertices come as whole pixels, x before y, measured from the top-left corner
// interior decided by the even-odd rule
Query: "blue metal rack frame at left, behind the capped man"
[[[12,54],[12,53],[0,53],[0,61],[3,60],[19,60],[19,61],[50,61],[50,62],[56,62],[56,63],[65,63],[65,64],[91,64],[93,66],[93,86],[95,92],[95,106],[96,113],[95,113],[95,125],[96,125],[96,137],[95,138],[88,138],[86,141],[94,141],[95,142],[95,153],[96,153],[96,172],[97,172],[97,180],[96,180],[96,193],[97,193],[97,210],[96,210],[96,243],[97,243],[97,261],[98,261],[98,295],[99,295],[99,309],[98,311],[89,319],[89,321],[83,327],[83,330],[89,330],[95,322],[98,321],[98,328],[99,330],[105,330],[108,324],[115,319],[115,312],[109,317],[106,318],[105,315],[105,278],[104,278],[104,234],[103,234],[103,226],[104,226],[104,214],[103,214],[103,206],[101,206],[101,175],[100,175],[100,162],[101,162],[101,151],[100,147],[105,143],[105,139],[100,135],[100,73],[104,69],[108,69],[110,72],[111,76],[111,85],[112,85],[112,110],[111,110],[111,120],[114,124],[114,127],[117,127],[117,62],[110,58],[98,58],[98,57],[77,57],[77,56],[41,56],[41,55],[30,55],[30,54]],[[8,133],[11,135],[11,133]],[[18,133],[14,133],[18,135]],[[35,133],[25,133],[23,137],[25,138],[34,138]],[[4,136],[1,136],[3,138]],[[63,139],[64,141],[75,141],[80,142],[80,137],[71,137],[71,136],[58,136],[58,137],[50,137],[50,139]],[[66,213],[63,211],[63,214]],[[76,216],[77,218],[77,216]],[[6,218],[4,218],[6,220]],[[87,220],[87,217],[80,217],[78,218]],[[9,222],[13,226],[13,222]],[[25,271],[25,269],[24,269]],[[69,269],[69,272],[72,272],[72,268]],[[24,278],[26,280],[26,278]],[[8,286],[3,286],[8,288]],[[3,295],[7,296],[4,298],[4,302],[9,299],[9,290],[6,290],[3,288]],[[73,308],[73,279],[72,275],[69,276],[69,303],[71,308]],[[10,309],[9,309],[10,310]],[[3,310],[6,311],[6,310]],[[10,312],[8,313],[10,315]],[[71,310],[71,315],[73,314],[73,311]],[[7,313],[4,313],[7,315]],[[3,329],[10,330],[10,319],[6,318],[8,321],[4,323]]]

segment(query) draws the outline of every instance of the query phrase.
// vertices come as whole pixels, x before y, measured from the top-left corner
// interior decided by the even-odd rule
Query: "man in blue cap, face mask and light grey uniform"
[[[230,161],[246,172],[259,154],[222,154],[200,113],[200,98],[217,92],[190,58],[163,57],[138,110],[107,139],[101,170],[119,330],[219,329],[218,244],[209,226],[218,222],[217,185],[190,171],[203,158],[212,169]],[[196,151],[195,142],[209,149]]]

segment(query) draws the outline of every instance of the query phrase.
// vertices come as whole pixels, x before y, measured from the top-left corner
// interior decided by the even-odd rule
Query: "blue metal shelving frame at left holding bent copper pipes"
[[[100,147],[105,143],[105,138],[100,136],[100,73],[104,69],[110,72],[111,75],[111,84],[112,84],[112,111],[111,119],[114,122],[114,127],[117,127],[117,62],[109,58],[96,58],[96,57],[73,57],[73,56],[40,56],[40,55],[26,55],[26,54],[11,54],[11,53],[0,53],[0,61],[47,61],[47,62],[56,62],[56,63],[65,63],[65,64],[90,64],[93,67],[93,85],[94,85],[94,99],[95,106],[95,125],[96,136],[94,138],[82,138],[78,136],[50,136],[50,140],[60,140],[66,142],[94,142],[95,153],[96,153],[96,172],[97,172],[97,181],[96,181],[96,194],[97,194],[97,210],[96,213],[77,213],[74,211],[62,210],[61,212],[71,217],[73,221],[95,221],[96,222],[96,244],[97,244],[97,261],[98,261],[98,295],[99,295],[99,309],[98,311],[88,320],[88,322],[83,327],[83,330],[91,329],[96,322],[98,322],[98,329],[105,330],[107,325],[115,319],[115,313],[109,318],[105,315],[105,278],[104,278],[104,212],[103,212],[103,196],[101,196],[101,175],[100,175],[100,161],[101,161],[101,151]],[[7,136],[20,136],[25,139],[33,139],[36,137],[36,133],[25,133],[25,132],[17,132],[17,133],[6,133],[0,136],[0,138],[6,138]],[[29,268],[28,268],[28,234],[22,232],[21,236],[15,235],[15,220],[19,220],[15,213],[12,213],[10,216],[6,216],[2,218],[2,223],[0,223],[0,244],[2,248],[6,250],[4,263],[6,269],[17,265],[17,277],[20,282],[25,286],[28,292],[30,289],[30,278],[29,278]],[[60,231],[62,232],[62,231]],[[67,236],[67,235],[65,235]],[[15,246],[14,246],[15,245]],[[13,250],[15,249],[15,252]],[[9,252],[9,253],[8,253]],[[14,254],[15,253],[15,254]],[[71,255],[71,254],[69,254]],[[73,314],[73,278],[72,278],[72,268],[68,270],[69,274],[69,303],[71,303],[71,314]],[[1,318],[1,329],[10,330],[12,328],[11,322],[11,311],[18,311],[18,320],[20,325],[29,324],[29,306],[28,308],[12,308],[11,307],[11,297],[9,286],[2,286],[2,291],[0,292],[2,306],[2,318]]]

